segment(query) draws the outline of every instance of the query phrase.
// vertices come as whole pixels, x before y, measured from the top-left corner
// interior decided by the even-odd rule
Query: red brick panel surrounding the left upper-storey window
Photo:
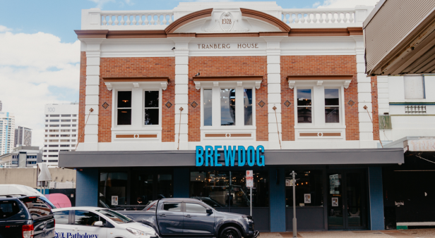
[[[112,142],[112,91],[103,82],[103,77],[169,77],[167,89],[162,92],[162,142],[174,142],[175,58],[101,58],[100,61],[100,113],[98,142]],[[101,105],[107,102],[109,107]]]

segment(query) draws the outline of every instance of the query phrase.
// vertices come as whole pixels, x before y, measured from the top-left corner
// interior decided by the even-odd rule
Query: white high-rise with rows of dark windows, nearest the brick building
[[[57,166],[59,151],[76,149],[78,139],[78,103],[46,104],[43,162]]]

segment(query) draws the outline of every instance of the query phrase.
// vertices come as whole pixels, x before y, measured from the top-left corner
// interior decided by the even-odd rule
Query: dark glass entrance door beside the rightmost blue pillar
[[[364,173],[328,173],[328,229],[352,230],[367,227]]]

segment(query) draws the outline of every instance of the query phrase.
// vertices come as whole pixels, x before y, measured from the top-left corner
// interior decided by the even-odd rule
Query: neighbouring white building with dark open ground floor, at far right
[[[434,226],[435,191],[422,181],[435,180],[435,75],[377,78],[379,137],[405,151],[404,163],[383,167],[386,229]]]

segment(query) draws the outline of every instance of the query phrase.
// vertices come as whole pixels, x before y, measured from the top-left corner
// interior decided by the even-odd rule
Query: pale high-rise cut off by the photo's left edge
[[[11,153],[15,137],[15,117],[12,113],[0,112],[0,155]]]

